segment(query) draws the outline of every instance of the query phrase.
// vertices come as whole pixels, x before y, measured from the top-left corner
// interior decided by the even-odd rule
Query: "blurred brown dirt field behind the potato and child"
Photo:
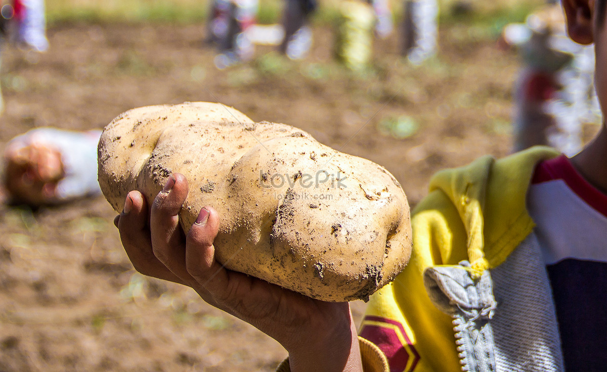
[[[378,41],[365,76],[330,62],[330,29],[314,33],[303,62],[264,47],[220,71],[203,25],[54,27],[44,55],[3,52],[0,150],[32,127],[92,129],[132,107],[220,101],[382,164],[413,205],[438,169],[509,152],[518,60],[486,30],[444,27],[439,58],[417,68],[396,38]],[[398,118],[404,138],[386,134]],[[0,371],[271,371],[286,356],[194,291],[135,273],[114,215],[103,197],[0,207]],[[359,320],[364,303],[352,306]]]

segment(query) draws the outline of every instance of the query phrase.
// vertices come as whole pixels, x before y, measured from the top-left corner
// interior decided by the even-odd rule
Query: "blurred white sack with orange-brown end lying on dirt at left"
[[[101,194],[97,181],[100,130],[29,130],[7,143],[4,186],[8,201],[31,206]]]

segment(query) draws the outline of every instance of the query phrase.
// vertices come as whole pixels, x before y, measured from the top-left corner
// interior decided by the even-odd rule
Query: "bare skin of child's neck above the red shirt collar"
[[[603,123],[597,137],[571,162],[586,181],[607,194],[607,124]]]

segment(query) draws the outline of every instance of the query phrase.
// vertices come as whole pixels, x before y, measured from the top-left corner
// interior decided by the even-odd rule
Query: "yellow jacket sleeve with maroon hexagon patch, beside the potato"
[[[461,371],[452,319],[430,302],[423,272],[467,259],[466,231],[457,209],[439,190],[412,215],[409,264],[371,296],[359,334],[385,354],[390,371]]]

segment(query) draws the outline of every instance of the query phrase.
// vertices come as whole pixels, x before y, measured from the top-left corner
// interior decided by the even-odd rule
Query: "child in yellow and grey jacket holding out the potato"
[[[607,1],[563,0],[569,35],[595,41],[607,104]],[[361,335],[347,303],[285,291],[214,260],[210,207],[183,237],[188,193],[169,177],[116,218],[135,268],[192,286],[279,341],[281,371],[599,371],[607,365],[607,125],[571,159],[535,147],[439,172],[413,211],[413,254],[371,296]],[[361,358],[362,357],[362,358]],[[390,365],[388,366],[388,362]]]

